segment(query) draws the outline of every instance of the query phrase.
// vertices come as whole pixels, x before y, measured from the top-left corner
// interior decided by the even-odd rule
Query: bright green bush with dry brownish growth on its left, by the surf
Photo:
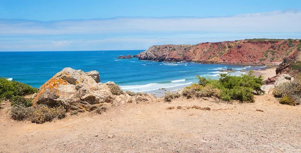
[[[254,102],[254,94],[262,94],[261,89],[263,77],[260,75],[256,77],[253,71],[241,76],[231,76],[228,74],[221,74],[217,80],[200,77],[198,84],[192,84],[185,87],[182,94],[191,98],[196,97],[218,97],[223,100],[239,100],[241,102]]]

